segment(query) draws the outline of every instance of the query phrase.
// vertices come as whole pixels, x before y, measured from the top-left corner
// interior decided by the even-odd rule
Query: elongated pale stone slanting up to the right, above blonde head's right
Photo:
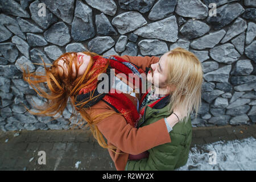
[[[212,32],[208,35],[204,35],[201,38],[193,40],[193,42],[191,42],[191,47],[200,50],[205,48],[213,48],[220,42],[225,34],[225,30],[220,30]]]

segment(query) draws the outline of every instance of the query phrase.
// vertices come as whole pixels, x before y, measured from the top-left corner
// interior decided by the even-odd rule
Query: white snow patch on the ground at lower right
[[[216,152],[216,164],[212,164],[213,160],[209,164],[209,159],[213,158],[210,151]],[[256,139],[253,137],[195,145],[189,151],[187,164],[176,171],[256,170],[255,151]]]

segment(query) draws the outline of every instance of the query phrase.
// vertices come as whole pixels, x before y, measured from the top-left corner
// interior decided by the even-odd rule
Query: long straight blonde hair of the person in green
[[[176,89],[170,93],[168,108],[170,113],[179,106],[186,115],[181,121],[187,122],[189,114],[199,110],[201,105],[201,85],[203,83],[203,69],[197,57],[186,49],[177,47],[167,53],[167,85],[175,85]]]

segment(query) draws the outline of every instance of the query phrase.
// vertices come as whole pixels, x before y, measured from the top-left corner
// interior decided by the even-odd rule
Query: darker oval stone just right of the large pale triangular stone
[[[181,28],[180,33],[187,39],[195,39],[209,32],[210,26],[200,20],[189,19]]]

